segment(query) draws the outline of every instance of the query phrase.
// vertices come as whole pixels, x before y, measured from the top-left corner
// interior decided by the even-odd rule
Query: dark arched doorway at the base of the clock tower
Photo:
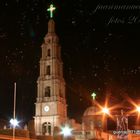
[[[51,135],[51,123],[50,122],[45,122],[42,125],[43,129],[43,135]]]

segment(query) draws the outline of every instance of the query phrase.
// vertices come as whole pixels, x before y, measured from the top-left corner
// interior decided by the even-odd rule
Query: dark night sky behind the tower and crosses
[[[101,5],[138,5],[138,0],[2,0],[0,118],[12,116],[15,81],[17,118],[28,121],[34,116],[40,46],[52,2],[57,8],[54,20],[62,46],[68,115],[79,120],[91,105],[93,91],[99,101],[106,94],[111,94],[114,103],[123,94],[139,98],[140,5],[137,9],[97,9]]]

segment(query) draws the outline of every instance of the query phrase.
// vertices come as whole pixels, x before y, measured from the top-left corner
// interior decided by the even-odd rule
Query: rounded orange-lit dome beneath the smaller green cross
[[[85,110],[83,116],[86,117],[86,116],[99,115],[97,112],[99,112],[99,108],[97,108],[96,106],[90,106]]]

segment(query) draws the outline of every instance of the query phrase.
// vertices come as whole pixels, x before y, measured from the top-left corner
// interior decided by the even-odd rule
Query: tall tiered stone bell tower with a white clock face
[[[35,103],[35,132],[36,135],[53,135],[54,127],[60,127],[67,119],[61,47],[53,19],[48,22],[48,33],[41,48]]]

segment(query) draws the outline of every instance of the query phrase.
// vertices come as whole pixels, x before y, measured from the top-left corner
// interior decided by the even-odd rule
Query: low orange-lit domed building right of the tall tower
[[[96,106],[88,107],[82,116],[82,123],[73,123],[72,131],[75,140],[116,140],[116,136],[106,131],[107,118]],[[78,126],[78,127],[76,127]]]

